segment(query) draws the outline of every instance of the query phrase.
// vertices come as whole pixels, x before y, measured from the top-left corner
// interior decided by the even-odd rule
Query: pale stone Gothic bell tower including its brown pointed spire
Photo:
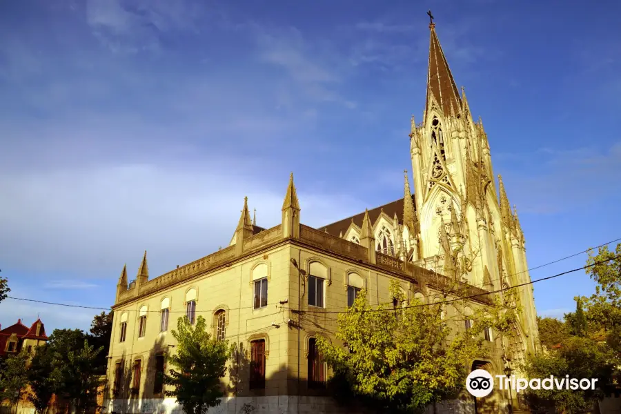
[[[530,282],[524,233],[500,176],[495,186],[483,122],[473,120],[464,88],[461,94],[457,89],[433,17],[429,28],[425,108],[422,122],[412,117],[410,134],[420,231],[414,235],[420,257],[415,262],[434,262],[438,272],[459,273],[464,282],[487,290]],[[538,346],[533,290],[519,290],[520,329],[532,349]]]

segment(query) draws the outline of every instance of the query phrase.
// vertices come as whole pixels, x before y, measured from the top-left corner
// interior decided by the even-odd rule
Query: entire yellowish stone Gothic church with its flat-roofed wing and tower
[[[214,413],[351,412],[317,386],[330,372],[315,340],[336,340],[329,311],[346,310],[363,288],[371,306],[390,302],[391,282],[407,299],[433,304],[441,302],[439,277],[451,275],[475,295],[467,299],[471,308],[489,304],[491,292],[517,286],[522,313],[515,335],[486,332],[488,352],[469,366],[503,375],[540,351],[517,210],[500,176],[495,181],[484,126],[457,89],[433,21],[430,31],[424,113],[420,123],[411,120],[412,175],[405,172],[403,195],[313,228],[302,224],[304,199],[292,174],[277,226],[257,226],[245,199],[226,248],[153,278],[146,252],[135,279],[123,268],[112,306],[107,413],[182,412],[165,397],[161,378],[166,355],[175,352],[170,331],[184,315],[190,322],[203,316],[214,337],[239,351]],[[484,400],[465,394],[429,412],[497,413],[509,404],[520,409],[517,395],[504,390]]]

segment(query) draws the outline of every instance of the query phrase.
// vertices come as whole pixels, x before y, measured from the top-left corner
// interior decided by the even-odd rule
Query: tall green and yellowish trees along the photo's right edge
[[[531,355],[524,367],[529,377],[598,378],[595,391],[531,390],[528,397],[535,407],[578,413],[614,384],[621,366],[621,258],[613,259],[618,255],[621,244],[615,252],[606,246],[597,254],[589,251],[586,264],[591,267],[586,268],[586,274],[597,283],[595,293],[575,298],[575,312],[565,315],[562,346],[547,355]],[[540,324],[542,341],[544,333]]]

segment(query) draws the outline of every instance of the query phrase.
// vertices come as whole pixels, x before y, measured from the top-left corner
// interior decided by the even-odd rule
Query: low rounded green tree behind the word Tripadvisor
[[[526,394],[531,408],[555,408],[560,413],[580,413],[592,406],[595,398],[602,396],[602,387],[609,384],[613,375],[610,349],[587,337],[568,337],[561,348],[544,355],[530,355],[524,364],[529,378],[554,377],[597,378],[596,389],[591,390],[529,390]]]

